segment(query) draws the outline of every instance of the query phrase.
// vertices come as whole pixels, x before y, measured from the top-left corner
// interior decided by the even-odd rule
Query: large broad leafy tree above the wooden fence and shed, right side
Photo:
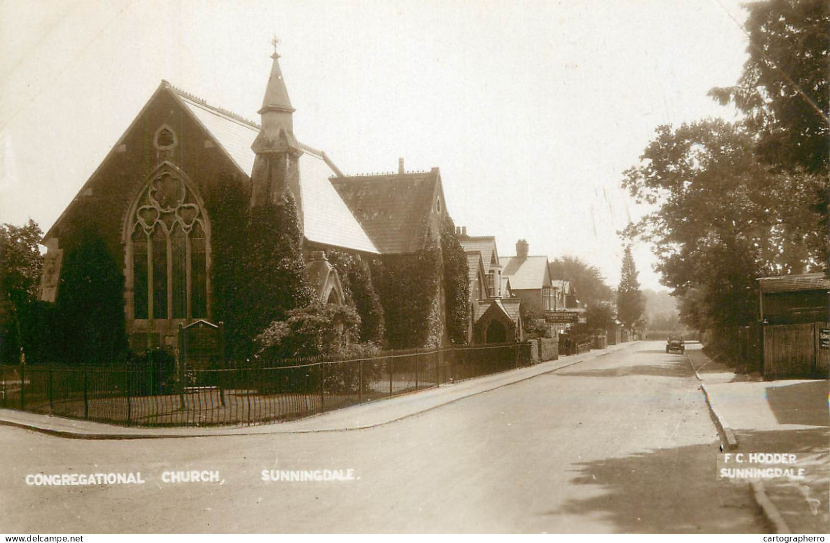
[[[775,172],[745,125],[704,120],[657,128],[623,187],[657,205],[623,232],[652,242],[674,296],[696,289],[711,323],[755,319],[755,277],[820,269],[827,255],[818,176]]]

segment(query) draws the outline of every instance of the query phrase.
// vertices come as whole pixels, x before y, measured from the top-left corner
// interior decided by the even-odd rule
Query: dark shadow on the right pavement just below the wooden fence
[[[766,396],[779,424],[830,426],[826,380],[770,386],[766,389]]]

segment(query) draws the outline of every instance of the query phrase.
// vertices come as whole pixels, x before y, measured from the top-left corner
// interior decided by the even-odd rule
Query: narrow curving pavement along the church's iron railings
[[[586,360],[593,360],[598,356],[608,355],[636,343],[609,345],[608,349],[604,350],[591,350],[580,355],[563,356],[558,360],[549,360],[540,364],[511,369],[475,379],[466,379],[453,384],[442,384],[434,389],[366,402],[284,423],[247,426],[136,428],[0,408],[0,424],[50,433],[64,438],[81,439],[197,438],[271,433],[342,432],[373,428],[381,424],[408,418],[417,413],[424,413],[442,405],[451,404],[459,399],[499,389],[508,384],[518,383]]]

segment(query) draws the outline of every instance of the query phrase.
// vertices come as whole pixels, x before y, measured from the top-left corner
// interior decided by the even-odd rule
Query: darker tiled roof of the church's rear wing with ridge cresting
[[[412,253],[427,243],[436,198],[444,202],[441,174],[353,175],[331,179],[378,251]]]

